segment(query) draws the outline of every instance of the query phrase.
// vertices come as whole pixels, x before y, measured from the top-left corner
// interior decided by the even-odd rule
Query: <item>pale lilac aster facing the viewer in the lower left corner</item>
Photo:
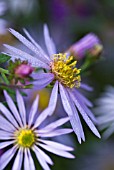
[[[67,122],[69,118],[62,118],[43,128],[39,128],[47,116],[50,113],[52,114],[51,107],[48,107],[37,116],[37,96],[27,119],[24,101],[19,91],[16,92],[19,111],[6,91],[4,95],[11,111],[0,103],[0,111],[3,113],[0,115],[0,149],[7,146],[9,146],[9,149],[0,157],[0,170],[6,167],[14,155],[16,157],[12,170],[21,170],[23,159],[25,170],[35,170],[31,150],[34,151],[39,163],[45,170],[50,170],[48,164],[52,165],[53,162],[43,150],[66,158],[74,158],[72,154],[68,153],[68,151],[73,150],[72,147],[46,139],[47,137],[55,137],[72,132],[68,128],[57,129]]]

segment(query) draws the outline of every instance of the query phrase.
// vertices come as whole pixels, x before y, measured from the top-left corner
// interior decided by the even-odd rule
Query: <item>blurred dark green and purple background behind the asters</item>
[[[81,37],[93,32],[103,44],[103,53],[102,59],[90,69],[86,80],[94,87],[90,100],[94,102],[106,85],[114,85],[114,0],[0,0],[0,3],[1,51],[3,43],[16,43],[5,29],[9,27],[19,32],[27,28],[43,45],[43,24],[47,23],[59,51],[65,51]],[[48,100],[49,92],[38,93],[46,95],[45,100]],[[45,107],[43,104],[44,100],[41,107]],[[114,136],[108,140],[97,139],[83,124],[85,143],[78,144],[75,135],[66,138],[66,143],[75,147],[76,159],[67,160],[51,155],[55,162],[52,169],[114,170]],[[40,169],[39,165],[36,166]]]

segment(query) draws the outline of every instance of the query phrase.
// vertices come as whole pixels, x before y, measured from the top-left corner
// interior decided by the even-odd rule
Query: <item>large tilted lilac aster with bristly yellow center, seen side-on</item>
[[[73,56],[67,56],[67,54],[64,53],[57,54],[55,44],[49,36],[46,25],[44,26],[44,38],[49,55],[43,51],[26,30],[24,30],[24,32],[30,41],[13,29],[10,29],[10,32],[28,47],[33,52],[33,55],[5,44],[4,46],[11,51],[8,55],[10,55],[12,59],[20,58],[21,60],[27,60],[31,66],[44,68],[47,71],[36,74],[37,81],[35,81],[34,84],[36,84],[37,89],[42,89],[50,83],[53,85],[49,101],[49,106],[52,107],[53,111],[56,107],[58,92],[60,92],[64,110],[70,118],[78,141],[80,143],[81,140],[85,141],[78,112],[80,112],[92,132],[100,137],[99,132],[92,122],[96,121],[93,113],[89,109],[89,107],[92,107],[92,103],[79,91],[81,88],[91,91],[91,88],[83,83],[80,84],[80,69],[76,67],[77,61],[74,61]]]

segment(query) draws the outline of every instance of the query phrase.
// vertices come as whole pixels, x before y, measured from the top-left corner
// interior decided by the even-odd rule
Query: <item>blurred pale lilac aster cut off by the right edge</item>
[[[100,130],[104,131],[104,138],[114,132],[114,87],[107,86],[105,92],[96,101],[95,113]]]

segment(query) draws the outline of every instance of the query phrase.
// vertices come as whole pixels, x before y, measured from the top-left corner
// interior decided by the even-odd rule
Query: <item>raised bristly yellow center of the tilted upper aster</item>
[[[53,62],[51,63],[51,71],[55,75],[55,79],[61,82],[64,86],[73,88],[80,86],[80,69],[76,68],[77,61],[74,61],[73,56],[67,57],[66,54],[54,54]]]

